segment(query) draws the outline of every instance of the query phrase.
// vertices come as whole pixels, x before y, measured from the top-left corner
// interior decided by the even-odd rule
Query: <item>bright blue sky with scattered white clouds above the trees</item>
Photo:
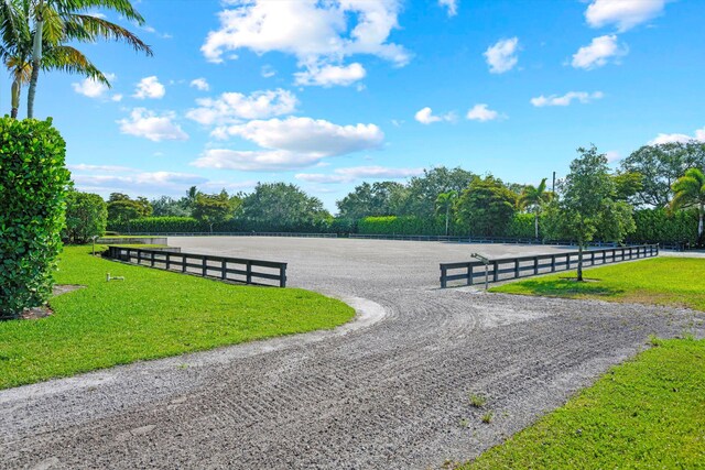
[[[362,181],[424,167],[536,183],[581,145],[617,165],[705,140],[702,0],[134,4],[154,57],[82,44],[112,88],[52,73],[37,90],[77,187],[104,196],[284,181],[334,210]]]

